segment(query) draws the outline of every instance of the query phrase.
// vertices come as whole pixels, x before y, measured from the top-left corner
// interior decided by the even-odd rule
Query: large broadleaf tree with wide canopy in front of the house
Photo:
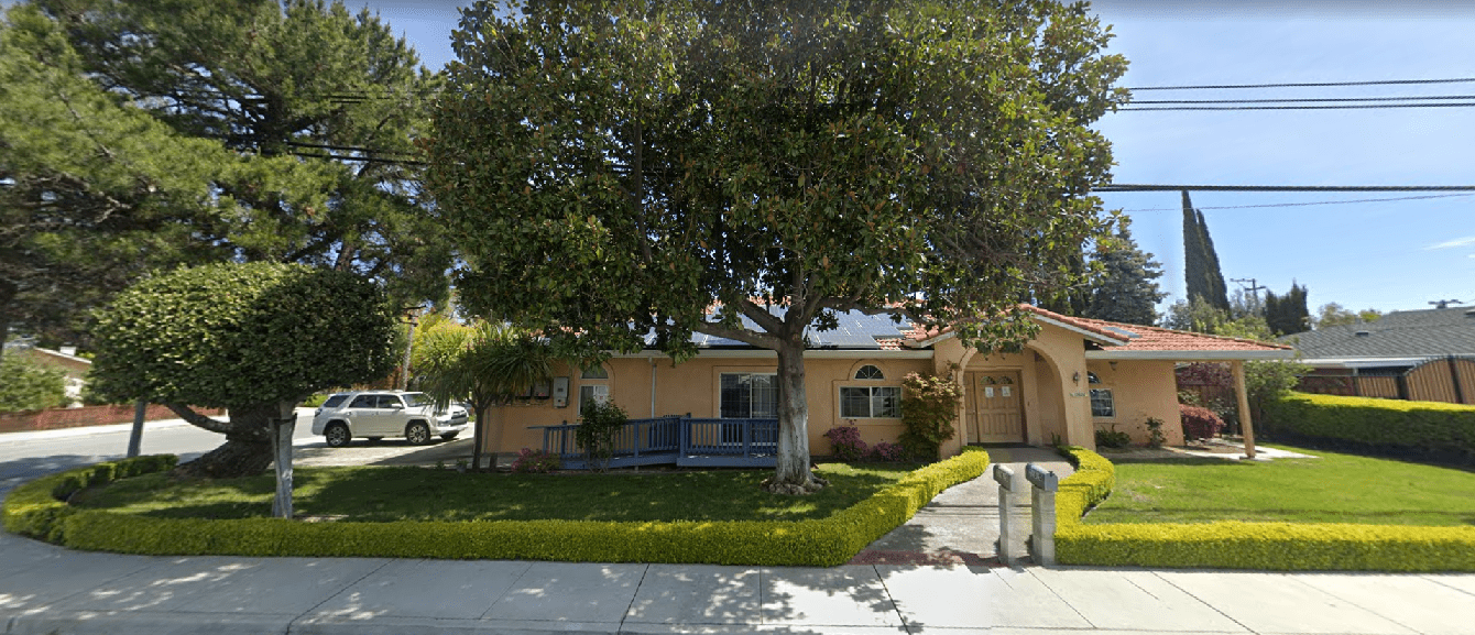
[[[808,470],[805,331],[838,311],[1030,337],[1081,281],[1125,69],[1084,4],[485,1],[453,35],[428,186],[494,320],[589,348],[692,333],[777,354],[779,461]]]

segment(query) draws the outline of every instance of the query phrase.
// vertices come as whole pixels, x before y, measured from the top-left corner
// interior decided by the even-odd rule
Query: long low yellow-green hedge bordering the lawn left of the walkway
[[[922,467],[876,495],[823,520],[711,523],[586,520],[302,523],[277,519],[150,519],[72,508],[60,502],[71,492],[59,486],[75,485],[62,480],[84,471],[77,470],[16,488],[4,502],[4,526],[16,533],[78,550],[155,555],[835,566],[844,564],[866,545],[907,522],[943,489],[978,477],[987,467],[987,452],[965,451],[950,460]],[[96,480],[91,483],[96,485]]]

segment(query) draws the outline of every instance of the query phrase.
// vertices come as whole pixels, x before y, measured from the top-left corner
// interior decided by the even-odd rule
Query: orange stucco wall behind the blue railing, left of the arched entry
[[[758,355],[758,354],[755,354]],[[653,364],[652,364],[653,361]],[[856,370],[872,364],[881,368],[884,380],[854,380]],[[808,436],[810,454],[830,454],[825,432],[839,424],[854,423],[866,443],[897,442],[901,433],[900,418],[839,418],[841,386],[901,386],[907,373],[931,370],[931,359],[907,358],[807,358],[804,361],[807,393],[810,404]],[[569,377],[569,401],[565,408],[555,408],[552,399],[534,399],[494,408],[490,423],[500,427],[496,438],[488,438],[485,449],[516,452],[521,448],[541,448],[543,432],[535,426],[574,423],[578,418],[578,393],[584,385],[608,385],[615,405],[624,408],[631,418],[664,417],[668,414],[690,414],[692,417],[717,417],[720,408],[720,382],[723,373],[773,373],[777,358],[770,355],[702,357],[698,355],[680,365],[671,365],[668,358],[612,358],[605,362],[606,380],[581,379],[575,368],[560,368],[559,376]],[[652,408],[652,370],[655,401]],[[488,435],[491,436],[491,435]]]

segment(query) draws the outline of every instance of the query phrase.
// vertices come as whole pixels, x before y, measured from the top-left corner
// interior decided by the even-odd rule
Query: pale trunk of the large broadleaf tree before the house
[[[810,473],[810,404],[804,392],[804,342],[779,348],[779,461],[763,482],[773,494],[811,494],[829,485]]]

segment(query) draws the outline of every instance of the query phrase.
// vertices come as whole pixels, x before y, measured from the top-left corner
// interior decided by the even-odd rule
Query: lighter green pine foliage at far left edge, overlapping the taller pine
[[[88,80],[59,25],[30,4],[0,24],[0,333],[78,342],[86,309],[155,267],[227,258],[195,228],[237,212],[211,183],[285,196],[313,174],[176,133]],[[302,193],[295,205],[323,205]]]

